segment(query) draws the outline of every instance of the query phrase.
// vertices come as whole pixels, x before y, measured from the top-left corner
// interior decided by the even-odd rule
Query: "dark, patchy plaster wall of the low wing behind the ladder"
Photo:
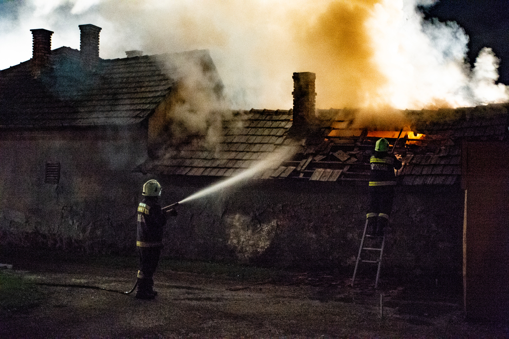
[[[173,203],[211,184],[164,181]],[[171,188],[170,188],[171,187]],[[164,191],[164,190],[163,190]],[[367,187],[327,182],[253,182],[178,206],[166,256],[272,267],[351,270],[365,222]],[[399,187],[384,270],[449,279],[462,270],[463,191]]]

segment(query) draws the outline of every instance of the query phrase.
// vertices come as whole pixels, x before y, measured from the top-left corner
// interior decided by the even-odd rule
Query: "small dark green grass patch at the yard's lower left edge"
[[[0,271],[0,312],[22,312],[39,306],[44,298],[32,281]]]

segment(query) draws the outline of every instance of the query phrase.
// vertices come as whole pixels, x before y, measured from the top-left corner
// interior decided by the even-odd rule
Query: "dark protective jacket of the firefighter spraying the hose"
[[[138,247],[162,247],[162,234],[166,214],[154,197],[145,197],[138,205],[137,237]]]

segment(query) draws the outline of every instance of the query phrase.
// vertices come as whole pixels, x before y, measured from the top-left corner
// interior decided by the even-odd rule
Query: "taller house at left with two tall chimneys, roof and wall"
[[[205,50],[128,51],[103,60],[100,27],[79,29],[80,50],[52,50],[53,32],[32,30],[33,58],[0,71],[6,249],[133,252],[136,206],[148,180],[133,169],[157,152],[181,61],[196,65],[214,93],[222,90]]]

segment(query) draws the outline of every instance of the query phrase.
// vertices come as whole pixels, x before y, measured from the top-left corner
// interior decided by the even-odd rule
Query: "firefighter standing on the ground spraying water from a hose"
[[[159,197],[161,185],[156,180],[149,180],[143,185],[145,197],[138,205],[136,246],[139,252],[140,268],[137,275],[136,298],[154,299],[153,275],[161,255],[162,234],[166,224],[166,214],[161,209]],[[174,209],[168,210],[177,215]]]

